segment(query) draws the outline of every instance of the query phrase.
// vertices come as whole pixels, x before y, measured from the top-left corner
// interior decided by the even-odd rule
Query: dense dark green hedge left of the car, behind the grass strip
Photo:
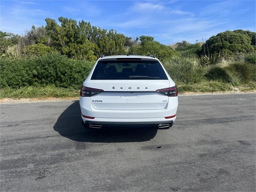
[[[92,62],[71,60],[59,54],[30,59],[0,58],[0,87],[20,87],[54,84],[80,88],[90,73]]]

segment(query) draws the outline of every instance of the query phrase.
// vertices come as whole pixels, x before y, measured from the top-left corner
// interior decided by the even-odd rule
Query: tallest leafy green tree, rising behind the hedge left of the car
[[[96,44],[88,40],[88,30],[86,22],[80,22],[77,25],[76,20],[60,17],[59,26],[53,19],[46,18],[46,30],[52,38],[53,46],[69,58],[85,59],[94,61],[97,50]]]

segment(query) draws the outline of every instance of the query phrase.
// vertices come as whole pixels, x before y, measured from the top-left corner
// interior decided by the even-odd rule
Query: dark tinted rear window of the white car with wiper
[[[106,60],[99,61],[91,80],[167,80],[167,76],[156,60]]]

